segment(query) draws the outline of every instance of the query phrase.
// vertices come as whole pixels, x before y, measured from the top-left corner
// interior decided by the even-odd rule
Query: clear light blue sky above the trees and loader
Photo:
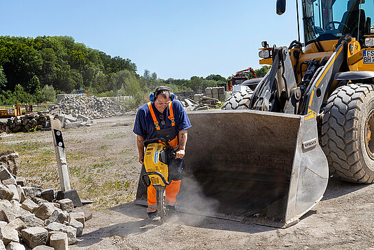
[[[1,35],[72,36],[159,78],[228,77],[258,69],[261,41],[297,39],[295,1],[1,1]]]

